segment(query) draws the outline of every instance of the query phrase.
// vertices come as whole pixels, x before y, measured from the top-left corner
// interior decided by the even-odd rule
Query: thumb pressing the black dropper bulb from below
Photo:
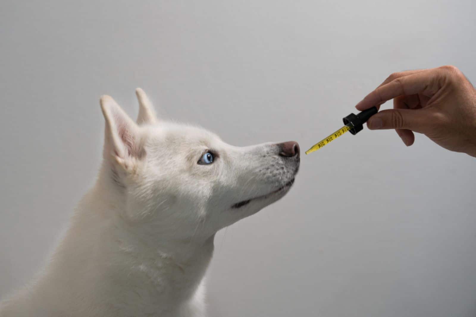
[[[424,133],[427,122],[423,109],[389,109],[374,114],[367,121],[367,127],[370,130],[407,129]]]

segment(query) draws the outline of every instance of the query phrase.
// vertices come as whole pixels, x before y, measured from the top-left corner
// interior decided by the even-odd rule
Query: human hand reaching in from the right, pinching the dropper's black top
[[[455,66],[394,73],[357,103],[359,111],[393,99],[367,121],[371,130],[396,129],[403,142],[423,133],[445,149],[476,157],[476,89]]]

